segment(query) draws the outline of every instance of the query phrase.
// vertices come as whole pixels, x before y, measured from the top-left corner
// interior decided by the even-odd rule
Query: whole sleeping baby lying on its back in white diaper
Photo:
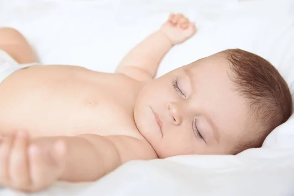
[[[0,185],[35,192],[131,160],[261,147],[292,114],[287,83],[267,60],[227,49],[154,79],[195,32],[171,14],[115,73],[100,73],[41,65],[18,31],[0,29]]]

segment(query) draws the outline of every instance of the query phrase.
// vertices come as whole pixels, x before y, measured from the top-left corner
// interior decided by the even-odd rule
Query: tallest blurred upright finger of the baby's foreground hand
[[[18,131],[14,145],[10,153],[10,182],[19,189],[25,189],[30,185],[27,160],[28,134],[26,131]]]

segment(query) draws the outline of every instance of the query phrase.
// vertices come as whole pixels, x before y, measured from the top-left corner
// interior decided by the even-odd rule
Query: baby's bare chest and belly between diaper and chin
[[[1,133],[129,134],[135,127],[134,100],[116,95],[125,87],[112,75],[72,66],[35,66],[13,73],[0,85]]]

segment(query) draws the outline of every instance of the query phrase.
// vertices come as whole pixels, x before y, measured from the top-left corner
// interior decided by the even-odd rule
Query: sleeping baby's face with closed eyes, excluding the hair
[[[237,147],[248,127],[249,106],[234,90],[230,73],[228,61],[214,54],[141,90],[135,122],[160,158],[230,154]]]

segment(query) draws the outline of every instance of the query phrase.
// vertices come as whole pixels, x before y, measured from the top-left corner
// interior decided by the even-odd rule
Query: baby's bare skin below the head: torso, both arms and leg
[[[19,63],[36,62],[17,31],[1,30],[1,49]],[[56,180],[96,180],[127,161],[158,158],[134,121],[136,98],[162,57],[195,31],[183,15],[171,14],[112,74],[44,65],[9,75],[0,84],[0,184],[35,192]]]

